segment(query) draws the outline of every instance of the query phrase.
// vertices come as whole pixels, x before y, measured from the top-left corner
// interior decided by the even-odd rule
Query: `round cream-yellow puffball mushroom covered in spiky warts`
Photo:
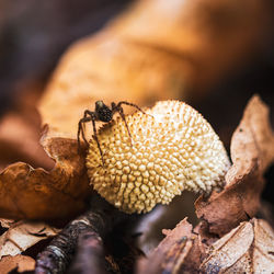
[[[126,116],[132,139],[119,117],[99,130],[104,164],[90,140],[88,175],[101,196],[125,213],[147,213],[184,190],[209,194],[224,183],[227,152],[197,111],[162,101],[146,113]]]

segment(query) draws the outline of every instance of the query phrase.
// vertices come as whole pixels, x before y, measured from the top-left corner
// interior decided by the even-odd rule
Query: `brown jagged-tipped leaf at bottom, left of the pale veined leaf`
[[[195,273],[205,248],[201,238],[192,232],[185,219],[172,230],[163,230],[165,238],[147,259],[141,259],[137,273]]]

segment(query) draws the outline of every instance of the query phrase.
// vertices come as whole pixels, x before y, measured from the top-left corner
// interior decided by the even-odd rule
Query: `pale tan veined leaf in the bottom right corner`
[[[261,219],[241,222],[210,247],[201,270],[205,273],[273,273],[273,229]]]

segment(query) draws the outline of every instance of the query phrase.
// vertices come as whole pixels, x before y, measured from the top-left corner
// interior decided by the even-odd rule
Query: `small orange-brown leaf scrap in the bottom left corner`
[[[16,272],[22,273],[24,271],[34,271],[35,260],[31,256],[15,255],[15,256],[4,256],[0,261],[0,273],[8,274],[11,271],[16,270]]]

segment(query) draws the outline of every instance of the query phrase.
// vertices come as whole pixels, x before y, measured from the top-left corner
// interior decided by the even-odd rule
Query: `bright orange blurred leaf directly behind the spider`
[[[93,110],[98,100],[142,106],[180,98],[182,70],[184,64],[176,56],[121,41],[109,32],[79,42],[62,57],[39,105],[48,136],[76,138],[83,111]]]

